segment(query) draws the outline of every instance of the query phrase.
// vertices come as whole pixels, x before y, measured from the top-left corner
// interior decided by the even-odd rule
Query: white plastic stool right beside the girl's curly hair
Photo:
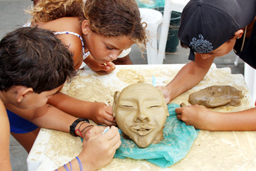
[[[146,43],[146,55],[147,55],[147,63],[148,64],[156,64],[157,61],[157,37],[158,32],[157,29],[161,25],[163,20],[163,15],[161,12],[148,8],[139,8],[141,22],[145,22],[147,24],[146,31],[150,36],[148,38],[148,42]]]

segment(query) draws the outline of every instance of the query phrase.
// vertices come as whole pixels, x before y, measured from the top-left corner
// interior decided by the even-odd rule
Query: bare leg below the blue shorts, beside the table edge
[[[38,132],[40,131],[40,127],[35,129],[34,131],[31,131],[29,133],[24,134],[17,134],[17,133],[11,133],[11,135],[22,145],[26,151],[29,153],[30,149],[32,148],[32,145],[35,142],[35,139],[37,137]]]

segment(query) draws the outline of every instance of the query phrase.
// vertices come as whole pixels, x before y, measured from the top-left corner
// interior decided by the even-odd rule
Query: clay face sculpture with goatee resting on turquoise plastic
[[[169,113],[162,91],[139,82],[115,92],[113,115],[119,129],[144,148],[163,139]]]

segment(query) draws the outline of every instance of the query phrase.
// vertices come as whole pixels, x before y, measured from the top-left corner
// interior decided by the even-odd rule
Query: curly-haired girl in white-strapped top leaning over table
[[[52,30],[69,46],[75,69],[85,62],[93,71],[110,73],[114,63],[132,64],[126,56],[131,46],[145,42],[135,1],[41,0],[27,12],[32,15],[27,25]]]

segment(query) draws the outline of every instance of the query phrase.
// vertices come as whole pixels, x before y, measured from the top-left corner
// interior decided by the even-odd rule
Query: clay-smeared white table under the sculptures
[[[109,102],[115,91],[139,80],[164,86],[182,68],[175,65],[116,66],[111,74],[80,71],[63,92],[82,100]],[[243,91],[239,107],[222,106],[216,111],[232,112],[254,107],[242,74],[230,74],[229,68],[217,69],[213,64],[205,78],[193,89],[181,94],[172,103],[187,102],[188,95],[212,85],[230,85]],[[82,149],[80,138],[60,131],[41,129],[28,155],[28,170],[53,170],[74,159]],[[256,132],[200,131],[187,156],[178,163],[160,168],[145,160],[117,159],[99,170],[254,170],[256,168]]]

